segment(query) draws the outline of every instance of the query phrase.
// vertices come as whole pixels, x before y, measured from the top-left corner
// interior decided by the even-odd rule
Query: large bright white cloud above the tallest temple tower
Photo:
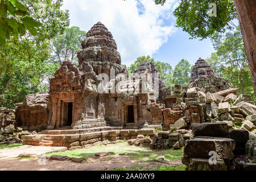
[[[122,64],[129,66],[138,56],[152,55],[176,32],[171,22],[175,0],[164,6],[153,0],[64,0],[71,26],[88,31],[98,21],[112,32]]]

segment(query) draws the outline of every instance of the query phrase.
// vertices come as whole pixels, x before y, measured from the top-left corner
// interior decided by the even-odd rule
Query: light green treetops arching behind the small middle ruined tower
[[[154,58],[150,56],[141,56],[138,57],[134,64],[131,64],[128,68],[129,74],[133,74],[139,68],[139,64],[143,61],[148,61],[155,64],[156,69],[158,69],[158,73],[160,78],[163,80],[166,86],[173,86],[172,84],[172,67],[168,63],[163,63],[161,61],[155,61]]]

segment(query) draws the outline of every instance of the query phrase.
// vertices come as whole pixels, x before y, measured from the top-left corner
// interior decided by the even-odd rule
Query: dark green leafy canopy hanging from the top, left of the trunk
[[[155,0],[157,5],[164,5],[166,0]],[[217,5],[217,16],[209,16],[212,7],[210,3]],[[191,38],[209,38],[214,32],[224,32],[234,24],[236,7],[233,0],[209,1],[209,0],[181,0],[174,11],[177,27],[183,28]]]

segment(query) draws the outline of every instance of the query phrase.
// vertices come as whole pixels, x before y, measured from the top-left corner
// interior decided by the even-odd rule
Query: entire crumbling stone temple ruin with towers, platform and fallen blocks
[[[154,63],[142,62],[129,75],[112,34],[100,22],[88,31],[77,57],[78,66],[69,60],[61,64],[49,79],[48,93],[30,94],[16,105],[14,125],[40,132],[22,136],[23,144],[73,149],[131,139],[130,143],[154,149],[185,145],[189,170],[230,169],[232,152],[255,156],[253,142],[247,142],[256,139],[251,96],[238,96],[239,89],[217,77],[203,59],[196,61],[188,87],[164,85]],[[159,127],[163,131],[157,133]],[[138,135],[151,137],[151,143]],[[244,140],[239,142],[237,135]],[[203,153],[198,146],[205,147]],[[219,155],[217,168],[205,164],[208,149]]]

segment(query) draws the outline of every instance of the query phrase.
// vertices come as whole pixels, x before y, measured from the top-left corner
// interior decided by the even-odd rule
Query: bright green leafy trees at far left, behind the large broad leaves
[[[45,16],[39,13],[41,2],[47,7]],[[30,16],[40,20],[42,26],[36,36],[12,37],[0,46],[0,107],[14,107],[23,102],[27,94],[48,89],[47,79],[59,66],[47,64],[46,60],[51,58],[49,41],[69,24],[68,11],[60,10],[62,2],[23,1],[23,5],[29,7]]]

